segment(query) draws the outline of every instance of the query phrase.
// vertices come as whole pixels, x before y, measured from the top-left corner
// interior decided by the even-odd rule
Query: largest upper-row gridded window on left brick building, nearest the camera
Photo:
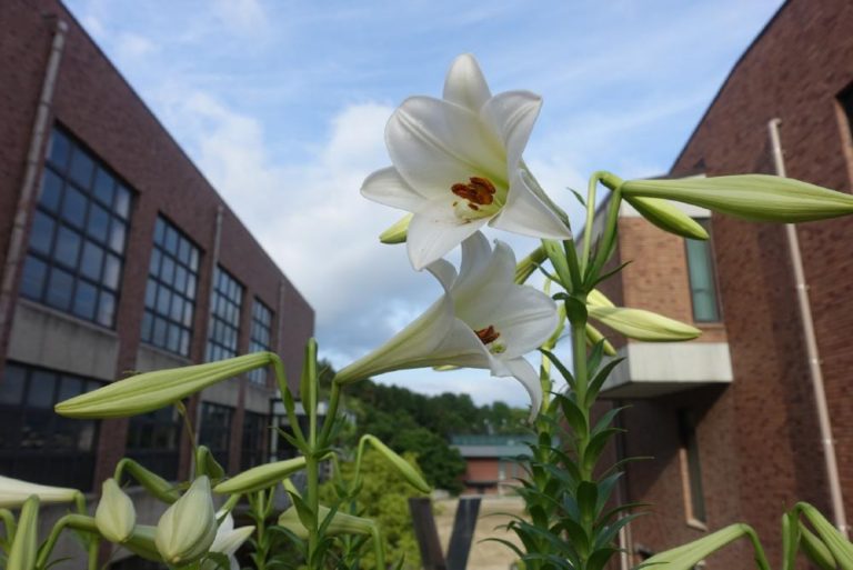
[[[21,294],[112,328],[131,201],[131,191],[106,164],[54,128]]]

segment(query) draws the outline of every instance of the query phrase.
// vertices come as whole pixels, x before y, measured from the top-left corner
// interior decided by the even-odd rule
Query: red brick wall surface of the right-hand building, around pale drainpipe
[[[777,117],[787,174],[850,192],[851,152],[835,97],[853,81],[852,29],[853,4],[846,0],[790,0],[732,71],[673,173],[772,172],[767,122]],[[699,446],[709,526],[753,524],[775,566],[783,509],[801,499],[831,514],[794,283],[783,228],[722,216],[714,216],[713,224],[735,380],[720,394],[685,398],[706,407]],[[802,224],[797,233],[845,503],[853,512],[853,221]],[[665,440],[672,406],[642,402],[629,412],[630,452],[659,456],[660,467],[633,467],[629,477],[634,499],[652,498],[659,506],[659,516],[634,526],[635,540],[655,546],[690,534],[668,520],[678,519],[681,509]],[[735,547],[712,568],[752,566],[747,549]]]

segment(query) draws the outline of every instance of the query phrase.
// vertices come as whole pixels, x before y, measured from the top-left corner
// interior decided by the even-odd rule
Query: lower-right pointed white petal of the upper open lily
[[[533,193],[520,170],[512,177],[506,206],[492,218],[489,226],[532,238],[572,238],[572,232],[560,217]]]

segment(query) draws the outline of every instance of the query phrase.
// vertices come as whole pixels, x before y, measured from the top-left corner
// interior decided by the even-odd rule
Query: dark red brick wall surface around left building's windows
[[[239,352],[249,349],[251,309],[258,297],[277,313],[274,319],[280,310],[283,313],[282,330],[273,331],[273,348],[282,348],[291,386],[297,389],[302,349],[313,333],[313,310],[73,17],[53,0],[0,2],[0,260],[8,247],[10,219],[23,178],[33,113],[52,40],[50,20],[42,14],[54,14],[69,23],[50,124],[54,121],[63,124],[137,192],[116,327],[121,341],[117,376],[121,370],[134,368],[153,227],[159,212],[201,249],[191,358],[203,360],[215,219],[218,209],[223,208],[219,263],[245,288]],[[282,282],[284,304],[280,308]],[[7,336],[0,333],[0,340],[4,347]],[[238,413],[234,422],[235,446],[242,433],[240,417]],[[101,438],[96,480],[106,477],[122,453],[124,430],[126,422],[121,420],[102,428],[102,433],[112,437]]]

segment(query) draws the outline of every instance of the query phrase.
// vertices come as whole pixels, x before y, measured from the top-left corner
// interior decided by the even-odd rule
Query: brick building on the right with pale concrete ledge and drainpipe
[[[786,171],[851,192],[851,30],[847,0],[789,0],[736,62],[670,174]],[[744,521],[776,566],[780,517],[797,500],[830,520],[853,516],[853,221],[796,227],[797,281],[785,227],[685,211],[708,223],[708,244],[663,233],[623,208],[618,257],[634,263],[608,289],[616,304],[703,330],[691,343],[620,347],[630,359],[606,391],[632,406],[620,452],[655,458],[628,468],[623,496],[654,506],[632,524],[629,547],[658,552]],[[800,289],[810,297],[816,352]],[[830,431],[819,421],[821,400]],[[833,454],[837,469],[826,464]],[[732,544],[708,567],[753,568],[751,547]]]

